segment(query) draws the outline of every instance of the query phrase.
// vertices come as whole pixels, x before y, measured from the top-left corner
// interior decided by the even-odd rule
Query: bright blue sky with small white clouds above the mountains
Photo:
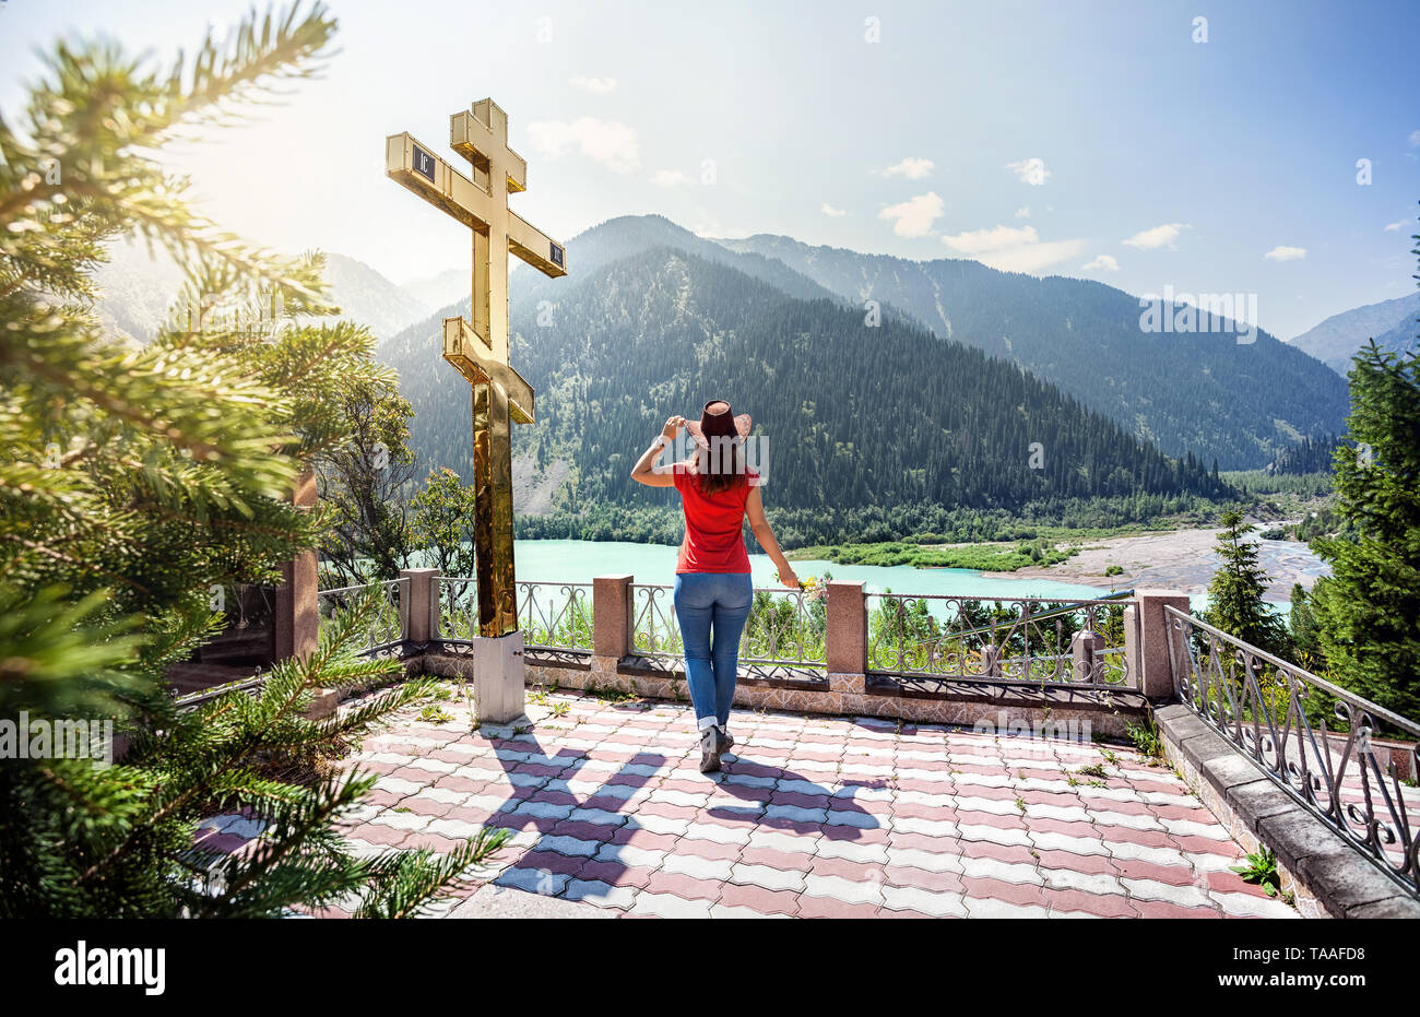
[[[385,135],[449,155],[449,114],[491,95],[530,163],[514,207],[564,240],[656,212],[707,236],[1255,293],[1284,338],[1414,287],[1420,3],[329,7],[324,78],[169,161],[223,226],[396,281],[467,266],[469,239],[383,178]],[[16,119],[58,34],[166,58],[246,9],[3,0],[0,109]]]

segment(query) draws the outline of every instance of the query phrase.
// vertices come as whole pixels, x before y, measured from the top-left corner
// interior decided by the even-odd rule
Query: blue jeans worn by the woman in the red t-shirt
[[[677,572],[676,619],[686,648],[686,683],[704,730],[730,720],[738,676],[740,633],[750,616],[754,587],[748,572]],[[711,643],[711,629],[714,642]]]

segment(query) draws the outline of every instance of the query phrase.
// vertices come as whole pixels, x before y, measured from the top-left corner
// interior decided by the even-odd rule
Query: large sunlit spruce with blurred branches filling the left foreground
[[[300,4],[250,16],[166,70],[115,45],[60,44],[23,125],[0,121],[0,717],[116,722],[118,766],[0,761],[0,915],[280,915],[334,901],[417,913],[497,847],[356,856],[335,831],[371,780],[331,766],[371,720],[427,695],[331,619],[308,660],[257,695],[179,710],[166,669],[222,628],[210,591],[273,582],[327,513],[297,479],[349,440],[342,393],[389,385],[368,331],[302,325],[329,308],[317,257],[219,232],[155,153],[320,68],[335,23]],[[141,237],[186,270],[172,321],[133,348],[104,334],[92,271]],[[210,314],[212,305],[229,308]],[[280,307],[271,315],[273,307]],[[189,314],[186,308],[193,308]],[[327,722],[315,687],[371,697]],[[241,856],[204,852],[204,817],[264,827]]]

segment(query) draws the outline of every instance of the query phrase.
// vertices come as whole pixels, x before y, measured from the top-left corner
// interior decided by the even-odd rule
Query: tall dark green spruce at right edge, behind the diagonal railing
[[[1348,378],[1355,447],[1332,470],[1346,528],[1312,541],[1332,567],[1314,592],[1318,638],[1333,680],[1420,719],[1420,349],[1372,341]]]

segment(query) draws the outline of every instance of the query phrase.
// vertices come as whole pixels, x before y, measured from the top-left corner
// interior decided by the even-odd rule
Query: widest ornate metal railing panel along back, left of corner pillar
[[[868,670],[941,686],[1132,689],[1139,682],[1123,652],[1123,598],[1132,594],[1065,602],[868,594]],[[1078,652],[1076,635],[1082,635]]]

